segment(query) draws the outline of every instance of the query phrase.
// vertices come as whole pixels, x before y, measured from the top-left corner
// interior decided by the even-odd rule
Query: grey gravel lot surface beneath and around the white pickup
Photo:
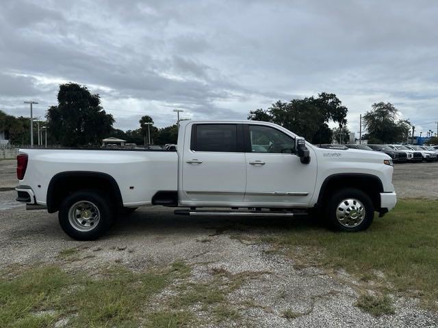
[[[250,327],[437,327],[438,316],[414,300],[394,299],[396,314],[374,318],[354,306],[361,282],[343,271],[327,272],[302,263],[300,248],[292,258],[255,242],[264,234],[281,232],[285,219],[177,217],[171,208],[140,208],[120,218],[107,236],[78,242],[66,236],[56,214],[25,211],[14,204],[14,161],[0,161],[0,269],[12,263],[59,263],[58,254],[77,247],[79,258],[68,267],[94,268],[122,263],[143,269],[184,260],[193,268],[193,282],[211,279],[212,269],[258,273],[229,295],[229,306]],[[396,166],[394,184],[402,197],[438,198],[438,163]],[[303,220],[303,225],[306,223]],[[244,227],[244,228],[242,228]],[[168,292],[172,292],[171,288]],[[245,303],[250,299],[252,303]],[[159,303],[159,299],[157,300]],[[283,317],[292,309],[303,314]]]

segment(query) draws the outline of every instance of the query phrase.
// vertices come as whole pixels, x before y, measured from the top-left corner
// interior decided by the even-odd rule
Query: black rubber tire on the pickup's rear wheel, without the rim
[[[73,210],[73,206],[78,202],[90,202],[99,213],[99,221],[89,231],[80,231],[75,228],[75,225],[69,219],[70,208]],[[88,216],[88,214],[87,214]],[[68,195],[60,206],[58,213],[58,219],[62,230],[71,238],[77,241],[93,241],[96,238],[102,236],[112,225],[113,222],[113,210],[110,206],[110,202],[99,191],[76,191],[71,195]],[[72,219],[74,221],[74,219]]]

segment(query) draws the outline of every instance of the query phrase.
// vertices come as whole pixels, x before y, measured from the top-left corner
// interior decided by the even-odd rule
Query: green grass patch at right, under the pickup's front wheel
[[[399,200],[394,210],[376,218],[365,232],[332,232],[317,224],[294,220],[281,234],[263,241],[300,247],[307,261],[326,267],[345,268],[362,281],[381,279],[384,273],[394,284],[391,292],[420,297],[437,309],[438,288],[438,201]],[[299,258],[298,258],[299,260]]]

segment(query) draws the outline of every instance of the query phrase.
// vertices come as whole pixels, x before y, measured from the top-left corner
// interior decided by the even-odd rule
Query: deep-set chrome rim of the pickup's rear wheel
[[[81,232],[88,232],[96,228],[100,217],[99,208],[88,200],[77,202],[68,210],[68,221],[73,228]]]

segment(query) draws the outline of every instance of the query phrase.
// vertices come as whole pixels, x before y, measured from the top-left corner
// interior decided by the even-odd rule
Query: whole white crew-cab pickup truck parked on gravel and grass
[[[138,206],[186,208],[175,210],[183,215],[311,211],[355,232],[396,205],[386,154],[318,148],[267,122],[183,121],[176,151],[22,149],[17,162],[17,200],[58,211],[78,240],[98,238]]]

